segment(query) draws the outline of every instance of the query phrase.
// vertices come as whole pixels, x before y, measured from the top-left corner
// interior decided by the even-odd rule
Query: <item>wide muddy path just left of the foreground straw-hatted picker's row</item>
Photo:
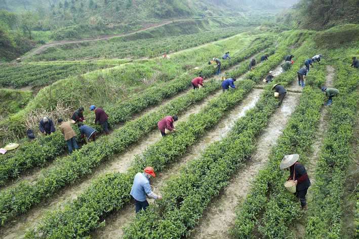
[[[300,94],[287,93],[281,108],[274,111],[268,127],[258,138],[251,160],[231,176],[228,185],[207,206],[208,209],[189,238],[231,238],[228,230],[235,219],[235,208],[246,196],[251,188],[251,181],[268,160],[270,149],[287,125],[299,97]]]

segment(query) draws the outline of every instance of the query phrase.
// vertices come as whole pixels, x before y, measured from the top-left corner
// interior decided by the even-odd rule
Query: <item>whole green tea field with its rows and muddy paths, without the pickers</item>
[[[358,27],[290,30],[258,19],[173,22],[2,65],[2,87],[38,93],[2,93],[3,105],[14,107],[0,122],[2,145],[20,146],[0,155],[0,237],[357,238],[359,171],[351,158],[358,162],[359,69],[350,64],[359,39],[337,44],[327,36]],[[318,54],[321,63],[298,85],[298,70]],[[294,63],[282,72],[288,55]],[[222,62],[219,75],[208,64],[213,57]],[[269,71],[275,77],[265,84]],[[192,90],[200,75],[204,87]],[[237,89],[222,92],[222,76],[235,77]],[[274,84],[287,91],[279,108]],[[340,92],[330,106],[322,87]],[[92,104],[108,114],[109,135],[92,123]],[[24,139],[27,128],[37,134],[39,115],[67,121],[80,106],[95,142],[77,126],[79,150],[71,154],[58,128]],[[157,122],[167,115],[178,115],[176,132],[162,137]],[[279,168],[293,153],[311,181],[307,211]],[[147,166],[163,198],[135,215],[133,178]]]

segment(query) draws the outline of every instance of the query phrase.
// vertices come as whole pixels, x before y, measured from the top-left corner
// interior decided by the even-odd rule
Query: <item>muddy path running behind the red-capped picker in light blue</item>
[[[249,92],[246,97],[241,101],[238,106],[234,107],[232,110],[228,112],[224,118],[213,128],[207,131],[203,137],[198,139],[198,141],[189,147],[186,152],[177,158],[174,163],[169,164],[166,169],[162,172],[157,173],[157,176],[151,179],[151,185],[155,187],[155,192],[161,194],[159,188],[163,185],[163,183],[174,177],[179,175],[178,168],[185,165],[186,163],[193,160],[193,158],[201,155],[201,150],[205,149],[207,145],[210,143],[220,140],[224,137],[230,130],[232,122],[239,117],[245,115],[245,111],[254,107],[255,103],[258,101],[260,97],[260,93],[262,90],[253,89]],[[149,203],[153,203],[154,200],[148,200]],[[101,227],[95,230],[91,237],[92,238],[118,238],[123,234],[121,229],[122,226],[126,225],[128,222],[132,221],[132,218],[135,216],[134,205],[131,202],[127,206],[125,206],[124,210],[115,212],[109,215],[106,218],[106,226]]]

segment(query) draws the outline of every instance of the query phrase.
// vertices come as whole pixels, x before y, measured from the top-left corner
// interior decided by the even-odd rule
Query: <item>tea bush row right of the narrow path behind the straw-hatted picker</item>
[[[329,107],[331,120],[317,162],[315,183],[308,204],[305,238],[344,238],[346,170],[350,164],[351,142],[357,123],[359,71],[343,63],[336,64],[339,95]]]

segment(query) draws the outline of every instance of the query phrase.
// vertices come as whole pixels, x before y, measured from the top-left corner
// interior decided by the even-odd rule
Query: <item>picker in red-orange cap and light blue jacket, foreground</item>
[[[146,194],[150,198],[162,199],[161,195],[152,192],[151,186],[149,185],[149,178],[151,176],[156,177],[153,168],[146,167],[143,173],[137,173],[133,179],[130,195],[135,199],[136,213],[142,209],[146,211],[146,208],[149,206],[146,200]]]

